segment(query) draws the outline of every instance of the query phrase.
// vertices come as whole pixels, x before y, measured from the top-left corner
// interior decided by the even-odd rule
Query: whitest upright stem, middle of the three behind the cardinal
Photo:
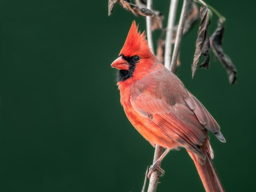
[[[177,5],[178,0],[171,0],[164,49],[164,67],[168,69],[170,69],[171,63],[173,25],[176,18]]]

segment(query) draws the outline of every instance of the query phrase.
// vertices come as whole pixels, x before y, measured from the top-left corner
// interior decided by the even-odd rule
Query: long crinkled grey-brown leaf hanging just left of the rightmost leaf
[[[198,62],[200,60],[200,57],[202,54],[205,56],[204,62],[200,65],[200,67],[209,68],[210,63],[210,38],[208,34],[208,8],[206,5],[203,5],[200,8],[200,26],[198,30],[198,36],[196,39],[196,51],[194,55],[194,61],[192,65],[192,78],[195,77],[196,68],[198,65]]]

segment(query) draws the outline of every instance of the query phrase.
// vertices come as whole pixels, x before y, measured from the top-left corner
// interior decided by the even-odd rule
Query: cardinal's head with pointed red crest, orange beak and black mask
[[[156,60],[148,47],[145,31],[138,32],[138,27],[133,21],[119,57],[113,61],[111,67],[118,69],[117,82],[130,78],[138,80],[148,73]]]

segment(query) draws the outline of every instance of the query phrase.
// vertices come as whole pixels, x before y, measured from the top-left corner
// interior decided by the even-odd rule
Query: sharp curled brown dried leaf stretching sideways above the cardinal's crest
[[[128,1],[124,1],[124,0],[119,0],[119,3],[128,11],[132,12],[134,15],[136,16],[150,16],[150,17],[154,17],[154,18],[159,18],[159,16],[154,12],[151,11],[149,9],[147,9],[146,7],[142,7],[140,5],[135,5],[132,4]]]

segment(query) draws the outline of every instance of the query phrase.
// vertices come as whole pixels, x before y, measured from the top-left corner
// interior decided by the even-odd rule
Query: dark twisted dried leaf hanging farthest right
[[[230,84],[234,84],[236,82],[236,67],[232,63],[231,59],[227,54],[224,53],[223,48],[222,48],[222,37],[224,33],[224,26],[218,20],[218,27],[217,29],[213,32],[211,38],[210,38],[210,43],[212,47],[212,51],[215,54],[215,57],[220,60],[222,63],[223,67],[226,68],[227,74],[228,74],[228,80]]]

